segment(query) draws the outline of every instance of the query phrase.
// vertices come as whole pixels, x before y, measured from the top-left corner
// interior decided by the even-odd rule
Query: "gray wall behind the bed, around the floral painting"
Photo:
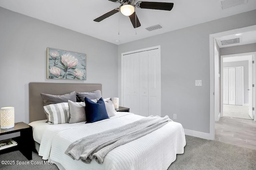
[[[118,96],[118,45],[0,8],[0,47],[0,107],[15,107],[15,122],[28,123],[30,82],[101,83]],[[86,53],[87,80],[46,79],[47,47]]]

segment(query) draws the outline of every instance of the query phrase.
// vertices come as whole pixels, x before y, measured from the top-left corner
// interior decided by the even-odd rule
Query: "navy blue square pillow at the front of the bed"
[[[102,97],[97,101],[97,103],[85,97],[84,102],[85,102],[86,123],[93,123],[93,122],[97,122],[97,121],[101,121],[103,119],[109,118],[108,113],[106,111],[105,103]]]

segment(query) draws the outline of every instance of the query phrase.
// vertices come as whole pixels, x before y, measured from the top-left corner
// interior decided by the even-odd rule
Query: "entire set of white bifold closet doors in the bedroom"
[[[122,105],[137,115],[161,116],[160,47],[122,53]]]

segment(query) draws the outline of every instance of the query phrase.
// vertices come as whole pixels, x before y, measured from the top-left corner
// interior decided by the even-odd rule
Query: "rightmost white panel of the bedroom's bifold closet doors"
[[[161,116],[161,58],[160,50],[148,51],[149,115]]]

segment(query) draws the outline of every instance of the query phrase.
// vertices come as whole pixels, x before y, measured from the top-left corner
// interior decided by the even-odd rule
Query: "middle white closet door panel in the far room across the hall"
[[[228,104],[236,105],[236,68],[228,69]]]

